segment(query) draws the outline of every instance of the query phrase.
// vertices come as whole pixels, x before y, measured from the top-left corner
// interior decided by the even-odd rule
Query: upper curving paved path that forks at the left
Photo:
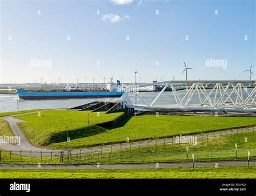
[[[58,109],[58,110],[66,110],[66,109]],[[49,110],[42,110],[42,111],[49,111]],[[25,114],[32,114],[32,113],[37,113],[38,111],[35,112],[30,112],[30,113],[25,113]],[[9,143],[0,143],[0,148],[6,151],[12,150],[13,153],[16,153],[17,155],[20,154],[19,151],[23,151],[22,155],[23,156],[30,156],[30,151],[33,152],[43,152],[42,156],[43,157],[50,157],[52,152],[53,156],[59,156],[60,150],[48,150],[48,149],[43,149],[43,148],[37,148],[33,145],[30,144],[28,139],[24,136],[23,132],[21,129],[19,129],[17,123],[19,122],[24,122],[22,120],[19,120],[17,118],[14,118],[15,116],[19,115],[24,115],[24,114],[16,114],[16,115],[11,115],[11,116],[5,116],[5,117],[0,117],[0,119],[3,119],[5,121],[9,122],[10,128],[12,132],[14,133],[15,136],[20,136],[21,137],[21,145],[12,145]],[[224,135],[231,135],[233,134],[235,137],[235,134],[244,132],[245,136],[248,134],[248,131],[253,131],[254,128],[249,128],[249,129],[237,129],[233,131],[226,131],[226,132],[215,132],[215,133],[208,133],[208,134],[203,134],[203,138],[207,137],[217,137],[219,136],[224,136]],[[255,133],[256,134],[256,133]],[[201,138],[200,133],[198,135],[193,135],[197,136],[197,139],[199,140]],[[101,147],[95,147],[95,148],[90,148],[90,149],[81,149],[81,150],[72,150],[72,154],[80,154],[80,153],[91,153],[91,152],[100,152],[100,151],[111,151],[111,150],[120,150],[120,149],[129,149],[129,148],[138,148],[140,146],[149,146],[149,145],[156,145],[156,144],[167,144],[167,143],[174,143],[176,142],[174,138],[171,139],[159,139],[156,141],[145,141],[145,142],[136,142],[136,143],[126,143],[126,144],[114,144],[114,145],[109,145],[109,146],[103,146]],[[66,151],[64,151],[66,153]],[[32,157],[39,157],[41,156],[41,153],[32,153]]]

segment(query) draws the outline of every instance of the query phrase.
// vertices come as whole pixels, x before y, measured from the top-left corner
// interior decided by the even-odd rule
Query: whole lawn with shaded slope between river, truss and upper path
[[[70,130],[69,137],[73,149],[126,143],[127,138],[130,142],[136,142],[201,132],[199,116],[129,115],[114,127],[100,128],[88,126],[89,113],[89,111],[46,111],[41,113],[41,117],[37,114],[29,114],[17,118],[28,121],[20,123],[19,126],[34,145],[49,146],[53,149],[66,148],[66,125]],[[122,113],[99,114],[97,117],[97,113],[90,113],[90,124],[113,120]],[[254,125],[256,118],[253,117],[203,117],[203,132]]]

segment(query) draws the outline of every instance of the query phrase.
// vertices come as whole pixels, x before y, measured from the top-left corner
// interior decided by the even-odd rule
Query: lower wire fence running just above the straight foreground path
[[[256,148],[206,149],[206,150],[170,150],[159,149],[150,151],[107,151],[92,153],[72,152],[32,152],[32,151],[0,151],[0,163],[29,164],[91,164],[91,163],[156,163],[186,162],[194,160],[241,160],[256,159]]]

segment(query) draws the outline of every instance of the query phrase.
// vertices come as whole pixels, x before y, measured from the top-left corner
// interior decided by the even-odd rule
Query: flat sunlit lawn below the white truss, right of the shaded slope
[[[254,126],[256,118],[252,117],[203,117],[203,132]],[[106,128],[99,134],[88,137],[72,138],[73,148],[86,148],[116,143],[146,141],[170,138],[179,134],[196,134],[201,132],[199,116],[132,116],[129,115],[116,126]],[[66,143],[52,143],[53,148],[65,148]]]

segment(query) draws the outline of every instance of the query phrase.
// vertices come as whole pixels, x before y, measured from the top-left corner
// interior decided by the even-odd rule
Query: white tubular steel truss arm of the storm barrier
[[[213,86],[207,87],[209,83]],[[244,80],[147,83],[129,86],[120,100],[125,101],[126,107],[137,109],[256,112],[256,87],[250,87],[249,90],[246,87],[249,83],[254,85],[254,81]],[[177,87],[177,84],[183,86],[186,90],[185,94],[178,93],[180,87]],[[153,101],[148,101],[140,95],[140,89],[156,85],[164,86],[164,88],[157,93]],[[164,104],[159,100],[167,87],[171,88],[171,92],[167,92],[169,93],[167,99],[172,99],[174,104]],[[129,96],[131,93],[135,93],[134,101]],[[138,101],[143,104],[138,104]]]

